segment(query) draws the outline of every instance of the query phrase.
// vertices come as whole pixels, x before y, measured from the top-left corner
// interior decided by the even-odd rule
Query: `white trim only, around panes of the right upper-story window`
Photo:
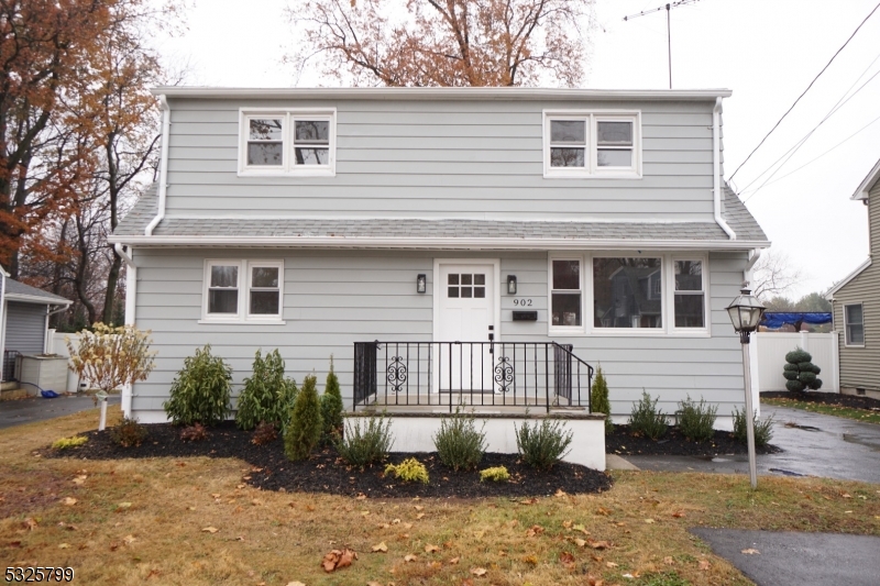
[[[550,166],[550,121],[584,120],[586,122],[586,153],[584,167]],[[632,122],[632,166],[600,167],[597,162],[598,121]],[[640,179],[641,169],[641,111],[640,110],[543,110],[542,145],[543,176],[552,179]]]

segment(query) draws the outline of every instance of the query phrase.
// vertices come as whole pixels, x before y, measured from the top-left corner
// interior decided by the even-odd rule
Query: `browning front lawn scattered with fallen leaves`
[[[96,585],[745,585],[689,527],[880,534],[880,486],[817,478],[762,477],[752,493],[744,476],[620,472],[600,495],[358,498],[260,489],[232,457],[36,455],[97,419],[0,431],[7,565]],[[358,560],[326,574],[344,548]]]

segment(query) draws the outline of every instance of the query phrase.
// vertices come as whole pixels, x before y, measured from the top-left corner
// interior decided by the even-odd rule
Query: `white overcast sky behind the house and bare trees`
[[[666,11],[623,20],[663,4],[596,1],[585,87],[669,86]],[[728,178],[876,4],[700,0],[672,10],[673,88],[734,91],[724,103]],[[189,85],[290,86],[293,71],[280,63],[296,41],[283,18],[286,5],[296,0],[196,0],[188,32],[163,41],[163,51],[172,60],[188,62]],[[867,208],[849,198],[880,158],[880,75],[871,78],[880,73],[878,38],[880,10],[734,178],[773,247],[803,270],[793,297],[827,289],[868,254]],[[315,84],[304,79],[300,86]],[[757,190],[770,177],[761,174],[850,96]]]

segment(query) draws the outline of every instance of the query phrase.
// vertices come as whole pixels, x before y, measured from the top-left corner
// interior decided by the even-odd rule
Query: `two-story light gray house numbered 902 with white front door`
[[[154,93],[160,180],[111,237],[127,320],[158,351],[128,413],[165,420],[207,343],[235,394],[257,349],[321,384],[333,355],[348,407],[389,388],[583,403],[584,363],[618,420],[642,390],[668,413],[703,397],[726,425],[743,405],[725,307],[770,243],[723,179],[729,91]]]

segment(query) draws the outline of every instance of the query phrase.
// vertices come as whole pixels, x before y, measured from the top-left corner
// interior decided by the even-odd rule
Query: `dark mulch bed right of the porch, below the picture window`
[[[780,447],[769,444],[756,446],[758,454],[776,454]],[[692,442],[678,428],[669,428],[659,440],[634,435],[629,425],[615,425],[614,433],[605,436],[605,452],[619,455],[664,455],[664,456],[718,456],[745,454],[745,443],[734,440],[729,431],[715,431],[715,438],[706,442]]]

